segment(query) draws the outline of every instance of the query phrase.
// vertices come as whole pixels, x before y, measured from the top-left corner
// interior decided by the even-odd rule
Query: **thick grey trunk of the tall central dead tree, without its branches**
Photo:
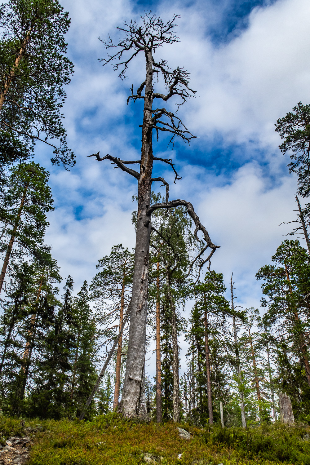
[[[136,233],[135,264],[132,282],[132,310],[129,326],[128,352],[123,396],[120,409],[125,417],[143,417],[146,409],[142,399],[146,314],[149,279],[149,249],[151,218],[146,215],[151,204],[152,188],[152,50],[145,52],[146,79],[144,117],[142,125],[141,167],[138,180],[138,220]]]

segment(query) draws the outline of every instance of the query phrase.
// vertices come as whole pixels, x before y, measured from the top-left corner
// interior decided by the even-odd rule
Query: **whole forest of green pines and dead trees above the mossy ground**
[[[120,183],[128,175],[136,179],[136,242],[131,249],[115,243],[79,289],[71,275],[60,276],[46,244],[53,193],[48,166],[36,162],[41,144],[51,166],[74,171],[76,163],[61,113],[73,74],[65,41],[69,13],[58,0],[9,0],[0,7],[1,419],[44,425],[84,419],[81,428],[103,429],[113,421],[176,423],[192,434],[202,429],[206,442],[217,434],[226,444],[224,431],[310,425],[310,104],[296,102],[274,122],[279,149],[297,177],[296,219],[283,219],[290,233],[257,269],[261,308],[243,308],[234,270],[224,276],[214,265],[220,244],[200,222],[195,200],[170,198],[162,173],[169,168],[174,183],[182,183],[177,163],[156,156],[161,136],[171,145],[197,137],[181,120],[196,93],[190,72],[182,63],[172,69],[155,53],[179,41],[177,24],[178,15],[165,21],[146,11],[117,28],[119,41],[100,38],[101,64],[112,65],[115,80],[125,78],[137,55],[144,73],[127,100],[128,106],[142,100],[141,158],[85,154],[89,164],[119,168]],[[174,113],[170,99],[177,102]],[[153,377],[146,373],[150,352]]]

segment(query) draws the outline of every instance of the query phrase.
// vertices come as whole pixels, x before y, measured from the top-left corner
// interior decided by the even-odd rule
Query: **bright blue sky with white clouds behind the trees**
[[[188,69],[197,90],[180,116],[199,138],[190,147],[176,143],[172,153],[165,138],[154,143],[154,153],[173,158],[183,177],[171,185],[170,198],[191,201],[212,241],[221,246],[212,267],[224,273],[226,285],[234,273],[239,305],[258,307],[255,273],[270,262],[289,231],[279,223],[295,218],[296,178],[288,174],[289,155],[278,149],[274,124],[299,101],[310,103],[309,0],[61,3],[72,19],[67,42],[75,73],[64,114],[77,164],[70,172],[51,167],[50,154],[40,146],[37,159],[51,173],[56,208],[46,242],[62,276],[70,273],[78,291],[113,245],[134,246],[135,179],[86,156],[100,151],[139,157],[142,104],[127,106],[126,98],[132,84],[144,80],[143,57],[132,62],[128,79],[121,81],[112,66],[98,61],[106,56],[98,36],[117,39],[116,26],[152,9],[164,20],[180,15],[180,42],[156,56]],[[171,171],[158,166],[156,173],[172,184]]]

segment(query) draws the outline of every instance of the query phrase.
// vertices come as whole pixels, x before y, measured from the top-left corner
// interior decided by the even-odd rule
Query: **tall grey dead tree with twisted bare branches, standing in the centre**
[[[159,132],[169,133],[170,142],[173,143],[175,136],[178,136],[184,142],[189,142],[193,136],[184,126],[180,118],[166,108],[153,109],[153,101],[168,101],[176,96],[180,99],[178,108],[185,103],[188,97],[194,95],[189,87],[189,72],[183,68],[171,69],[167,66],[165,60],[155,61],[154,52],[164,44],[173,44],[178,42],[178,36],[174,33],[176,27],[175,21],[178,16],[174,15],[172,20],[166,23],[160,18],[146,13],[142,17],[141,24],[135,20],[129,24],[124,23],[124,27],[117,27],[124,33],[124,38],[119,43],[114,44],[109,37],[108,40],[101,40],[112,54],[106,59],[102,59],[103,64],[112,63],[114,69],[119,72],[119,77],[125,77],[129,63],[140,52],[145,55],[146,75],[145,80],[134,93],[133,86],[130,100],[144,100],[143,124],[142,124],[142,147],[141,159],[139,160],[122,160],[118,157],[107,154],[100,158],[99,153],[90,155],[96,156],[98,161],[111,160],[115,167],[120,168],[125,173],[132,175],[138,181],[138,217],[137,233],[135,248],[135,266],[132,286],[132,310],[130,317],[128,352],[125,371],[125,381],[123,388],[122,400],[119,406],[120,411],[126,417],[143,417],[146,413],[143,405],[144,389],[144,365],[145,365],[145,337],[146,337],[146,312],[148,296],[148,274],[149,274],[149,245],[151,236],[151,214],[157,208],[169,209],[174,206],[186,206],[188,213],[196,225],[195,236],[198,231],[202,231],[206,242],[205,248],[210,247],[211,253],[206,260],[210,260],[211,255],[215,252],[215,246],[209,237],[204,226],[201,225],[198,216],[194,212],[190,202],[185,200],[168,201],[169,185],[163,178],[152,178],[152,169],[154,161],[161,161],[171,166],[174,171],[174,182],[181,179],[176,172],[171,159],[162,159],[153,156],[152,150],[152,133],[156,131],[157,137]],[[158,76],[164,80],[166,93],[155,92],[153,85]],[[144,95],[142,91],[144,90]],[[139,171],[135,171],[127,165],[136,164]],[[166,202],[151,206],[151,189],[152,182],[162,182],[166,187]]]

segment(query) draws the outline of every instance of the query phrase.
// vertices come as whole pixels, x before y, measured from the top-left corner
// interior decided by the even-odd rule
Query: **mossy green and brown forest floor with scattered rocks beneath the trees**
[[[199,429],[108,414],[83,422],[26,420],[21,428],[20,419],[0,417],[0,436],[0,465],[310,465],[307,425]]]

